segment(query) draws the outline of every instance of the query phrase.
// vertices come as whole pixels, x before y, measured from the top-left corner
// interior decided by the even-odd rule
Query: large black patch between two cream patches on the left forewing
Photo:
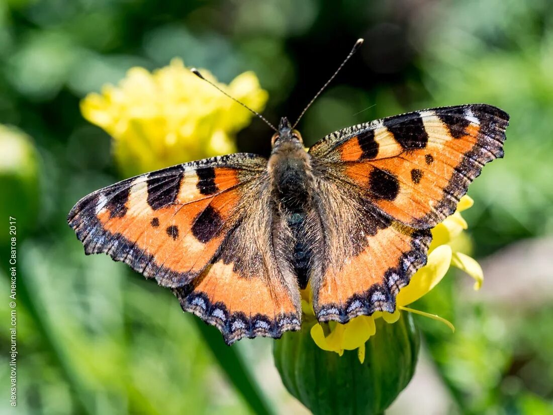
[[[148,180],[146,181],[148,186],[148,204],[152,209],[161,209],[161,207],[175,203],[183,175],[184,170],[180,165],[148,175]]]

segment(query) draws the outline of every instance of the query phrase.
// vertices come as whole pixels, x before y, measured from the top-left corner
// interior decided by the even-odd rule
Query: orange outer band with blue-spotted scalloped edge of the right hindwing
[[[414,230],[398,222],[365,238],[357,255],[336,267],[329,264],[313,284],[314,308],[319,321],[345,323],[358,315],[395,310],[399,289],[426,263],[429,230]]]

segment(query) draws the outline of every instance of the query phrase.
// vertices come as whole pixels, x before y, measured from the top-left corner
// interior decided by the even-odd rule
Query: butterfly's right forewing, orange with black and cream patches
[[[410,112],[331,134],[310,154],[390,218],[426,229],[455,211],[484,164],[503,157],[508,120],[484,104]]]

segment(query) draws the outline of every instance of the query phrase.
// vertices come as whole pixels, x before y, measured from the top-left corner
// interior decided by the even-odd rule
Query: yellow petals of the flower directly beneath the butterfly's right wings
[[[394,313],[376,312],[371,316],[362,315],[346,324],[335,321],[328,324],[316,323],[311,328],[311,337],[317,346],[323,350],[334,351],[339,355],[342,355],[344,350],[358,349],[359,361],[362,363],[365,355],[365,343],[376,333],[374,319],[382,317],[387,323],[395,323],[400,317],[401,310],[442,321],[454,330],[455,328],[449,321],[406,306],[429,293],[444,278],[451,265],[462,269],[474,278],[476,281],[474,289],[479,289],[482,286],[484,279],[482,268],[473,258],[459,251],[465,245],[463,244],[465,235],[462,232],[467,229],[467,222],[460,212],[471,207],[473,203],[474,201],[469,196],[463,196],[456,212],[432,229],[428,261],[414,274],[409,285],[398,293]],[[302,309],[307,319],[315,315],[310,303],[309,287],[302,293]]]

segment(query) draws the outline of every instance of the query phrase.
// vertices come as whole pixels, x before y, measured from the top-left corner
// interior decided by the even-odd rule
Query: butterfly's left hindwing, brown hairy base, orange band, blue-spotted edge
[[[299,330],[298,282],[283,266],[284,251],[273,237],[278,218],[269,210],[270,190],[262,186],[210,266],[186,286],[173,289],[182,308],[221,330],[227,344],[244,336],[280,338]]]

